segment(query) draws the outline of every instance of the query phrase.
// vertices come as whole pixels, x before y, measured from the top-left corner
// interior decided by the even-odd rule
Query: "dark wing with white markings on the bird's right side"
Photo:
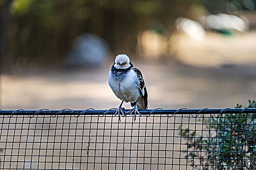
[[[145,82],[144,79],[142,77],[142,73],[140,72],[140,70],[138,68],[131,68],[137,75],[138,80],[139,80],[139,88],[142,94],[142,97],[140,99],[140,101],[142,103],[140,103],[142,105],[142,109],[146,109],[148,107],[148,92],[145,86]],[[131,103],[131,105],[133,105],[133,103]]]

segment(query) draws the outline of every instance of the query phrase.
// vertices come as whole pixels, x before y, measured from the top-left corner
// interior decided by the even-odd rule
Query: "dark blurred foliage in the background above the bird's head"
[[[191,0],[14,0],[5,62],[60,63],[81,34],[97,34],[113,52],[133,53],[146,29],[171,31]]]

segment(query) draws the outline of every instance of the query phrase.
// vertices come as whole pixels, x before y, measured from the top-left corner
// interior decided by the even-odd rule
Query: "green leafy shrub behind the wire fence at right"
[[[242,107],[236,105],[236,108]],[[256,101],[249,101],[248,107],[256,108]],[[187,163],[195,170],[255,170],[256,114],[222,113],[218,117],[205,117],[198,119],[203,123],[202,130],[207,130],[207,136],[202,130],[180,131],[182,137],[188,137],[184,151]]]

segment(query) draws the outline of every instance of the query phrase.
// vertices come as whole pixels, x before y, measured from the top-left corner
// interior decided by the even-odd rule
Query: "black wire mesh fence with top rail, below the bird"
[[[256,109],[140,112],[2,110],[0,169],[256,169]]]

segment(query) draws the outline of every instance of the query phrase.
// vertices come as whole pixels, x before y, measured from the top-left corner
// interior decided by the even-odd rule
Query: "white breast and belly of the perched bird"
[[[125,102],[136,102],[141,96],[138,78],[133,70],[129,70],[123,79],[118,79],[110,69],[108,84],[115,95]]]

